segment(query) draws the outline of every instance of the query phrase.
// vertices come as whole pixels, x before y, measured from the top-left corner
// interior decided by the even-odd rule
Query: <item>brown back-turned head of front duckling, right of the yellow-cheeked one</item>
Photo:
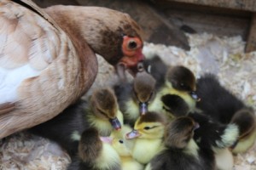
[[[199,127],[192,118],[180,116],[166,126],[165,144],[167,147],[184,148],[194,136],[194,130]]]

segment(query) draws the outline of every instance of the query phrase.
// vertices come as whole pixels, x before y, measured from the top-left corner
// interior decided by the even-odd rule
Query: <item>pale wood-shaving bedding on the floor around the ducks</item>
[[[146,42],[143,52],[148,58],[158,54],[168,65],[185,65],[194,71],[196,77],[205,72],[218,75],[224,87],[256,111],[256,52],[244,54],[245,42],[241,37],[216,37],[207,33],[188,34],[187,37],[189,51]],[[99,74],[91,90],[118,81],[113,67],[98,59]],[[13,134],[2,139],[0,145],[1,170],[65,169],[70,161],[57,144],[28,133]],[[234,170],[256,170],[256,144],[247,153],[234,157]]]

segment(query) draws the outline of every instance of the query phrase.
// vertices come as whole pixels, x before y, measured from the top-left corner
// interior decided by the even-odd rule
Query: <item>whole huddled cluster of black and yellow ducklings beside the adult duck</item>
[[[256,138],[253,109],[211,74],[158,57],[144,68],[29,131],[67,150],[69,170],[232,169]]]

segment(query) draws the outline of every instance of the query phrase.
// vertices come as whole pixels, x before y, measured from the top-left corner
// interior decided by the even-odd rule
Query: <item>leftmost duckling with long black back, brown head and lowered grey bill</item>
[[[79,100],[60,115],[29,131],[55,141],[73,157],[77,153],[79,137],[84,129],[96,127],[102,136],[108,136],[113,129],[119,130],[122,123],[123,116],[113,91],[110,88],[99,88],[93,92],[90,101]]]

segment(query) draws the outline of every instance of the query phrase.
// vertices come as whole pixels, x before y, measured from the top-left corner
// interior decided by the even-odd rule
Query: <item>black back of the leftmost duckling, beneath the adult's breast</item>
[[[69,156],[73,157],[77,154],[79,140],[72,139],[72,134],[74,132],[81,134],[86,128],[86,123],[84,123],[85,105],[85,101],[79,100],[67,107],[58,116],[32,127],[28,131],[55,141],[63,149],[67,150]]]

